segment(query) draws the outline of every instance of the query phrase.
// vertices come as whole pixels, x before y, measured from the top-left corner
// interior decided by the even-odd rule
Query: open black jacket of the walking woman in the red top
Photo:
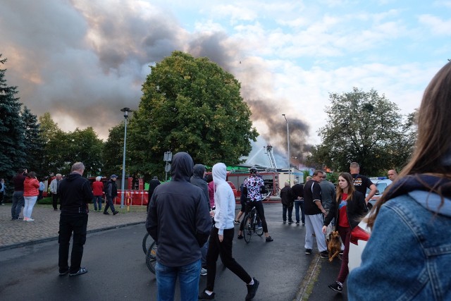
[[[351,228],[354,228],[359,224],[366,212],[368,212],[368,208],[366,208],[365,197],[362,193],[355,190],[354,195],[347,201],[346,205],[347,220],[350,222]],[[340,215],[338,214],[338,202],[336,199],[334,199],[330,205],[329,213],[327,214],[326,219],[324,219],[324,226],[328,226],[334,217],[336,219],[335,225],[338,226]]]

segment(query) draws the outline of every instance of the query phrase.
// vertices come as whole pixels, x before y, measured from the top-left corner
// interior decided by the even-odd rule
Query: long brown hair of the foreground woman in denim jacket
[[[407,175],[429,173],[443,178],[451,178],[451,167],[443,164],[446,156],[451,156],[451,62],[441,68],[429,82],[424,91],[418,113],[418,132],[412,158],[400,172],[399,178]],[[426,183],[425,183],[426,185]],[[431,192],[443,195],[436,187],[429,187]],[[369,216],[368,226],[373,227],[374,221],[387,202],[387,194],[393,190],[390,185],[373,207]]]

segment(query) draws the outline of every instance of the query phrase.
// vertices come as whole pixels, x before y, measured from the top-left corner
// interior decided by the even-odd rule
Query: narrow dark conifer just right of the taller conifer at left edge
[[[37,116],[25,106],[22,112],[25,125],[25,164],[29,171],[35,171],[39,178],[47,176],[42,165],[44,162],[44,138],[42,137]]]

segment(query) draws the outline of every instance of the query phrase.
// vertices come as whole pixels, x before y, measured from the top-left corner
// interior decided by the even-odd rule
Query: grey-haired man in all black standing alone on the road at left
[[[89,180],[82,178],[85,165],[81,162],[73,164],[69,176],[61,180],[59,218],[59,275],[78,276],[87,273],[80,267],[83,256],[83,245],[86,242],[87,204],[94,198]],[[68,266],[70,236],[73,233],[70,267]]]

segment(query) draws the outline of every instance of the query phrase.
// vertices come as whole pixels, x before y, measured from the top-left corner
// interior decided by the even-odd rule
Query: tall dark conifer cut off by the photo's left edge
[[[6,59],[1,59],[4,65]],[[0,178],[6,185],[18,168],[25,166],[25,125],[20,116],[20,104],[16,94],[17,87],[8,86],[5,79],[6,69],[0,69]]]

